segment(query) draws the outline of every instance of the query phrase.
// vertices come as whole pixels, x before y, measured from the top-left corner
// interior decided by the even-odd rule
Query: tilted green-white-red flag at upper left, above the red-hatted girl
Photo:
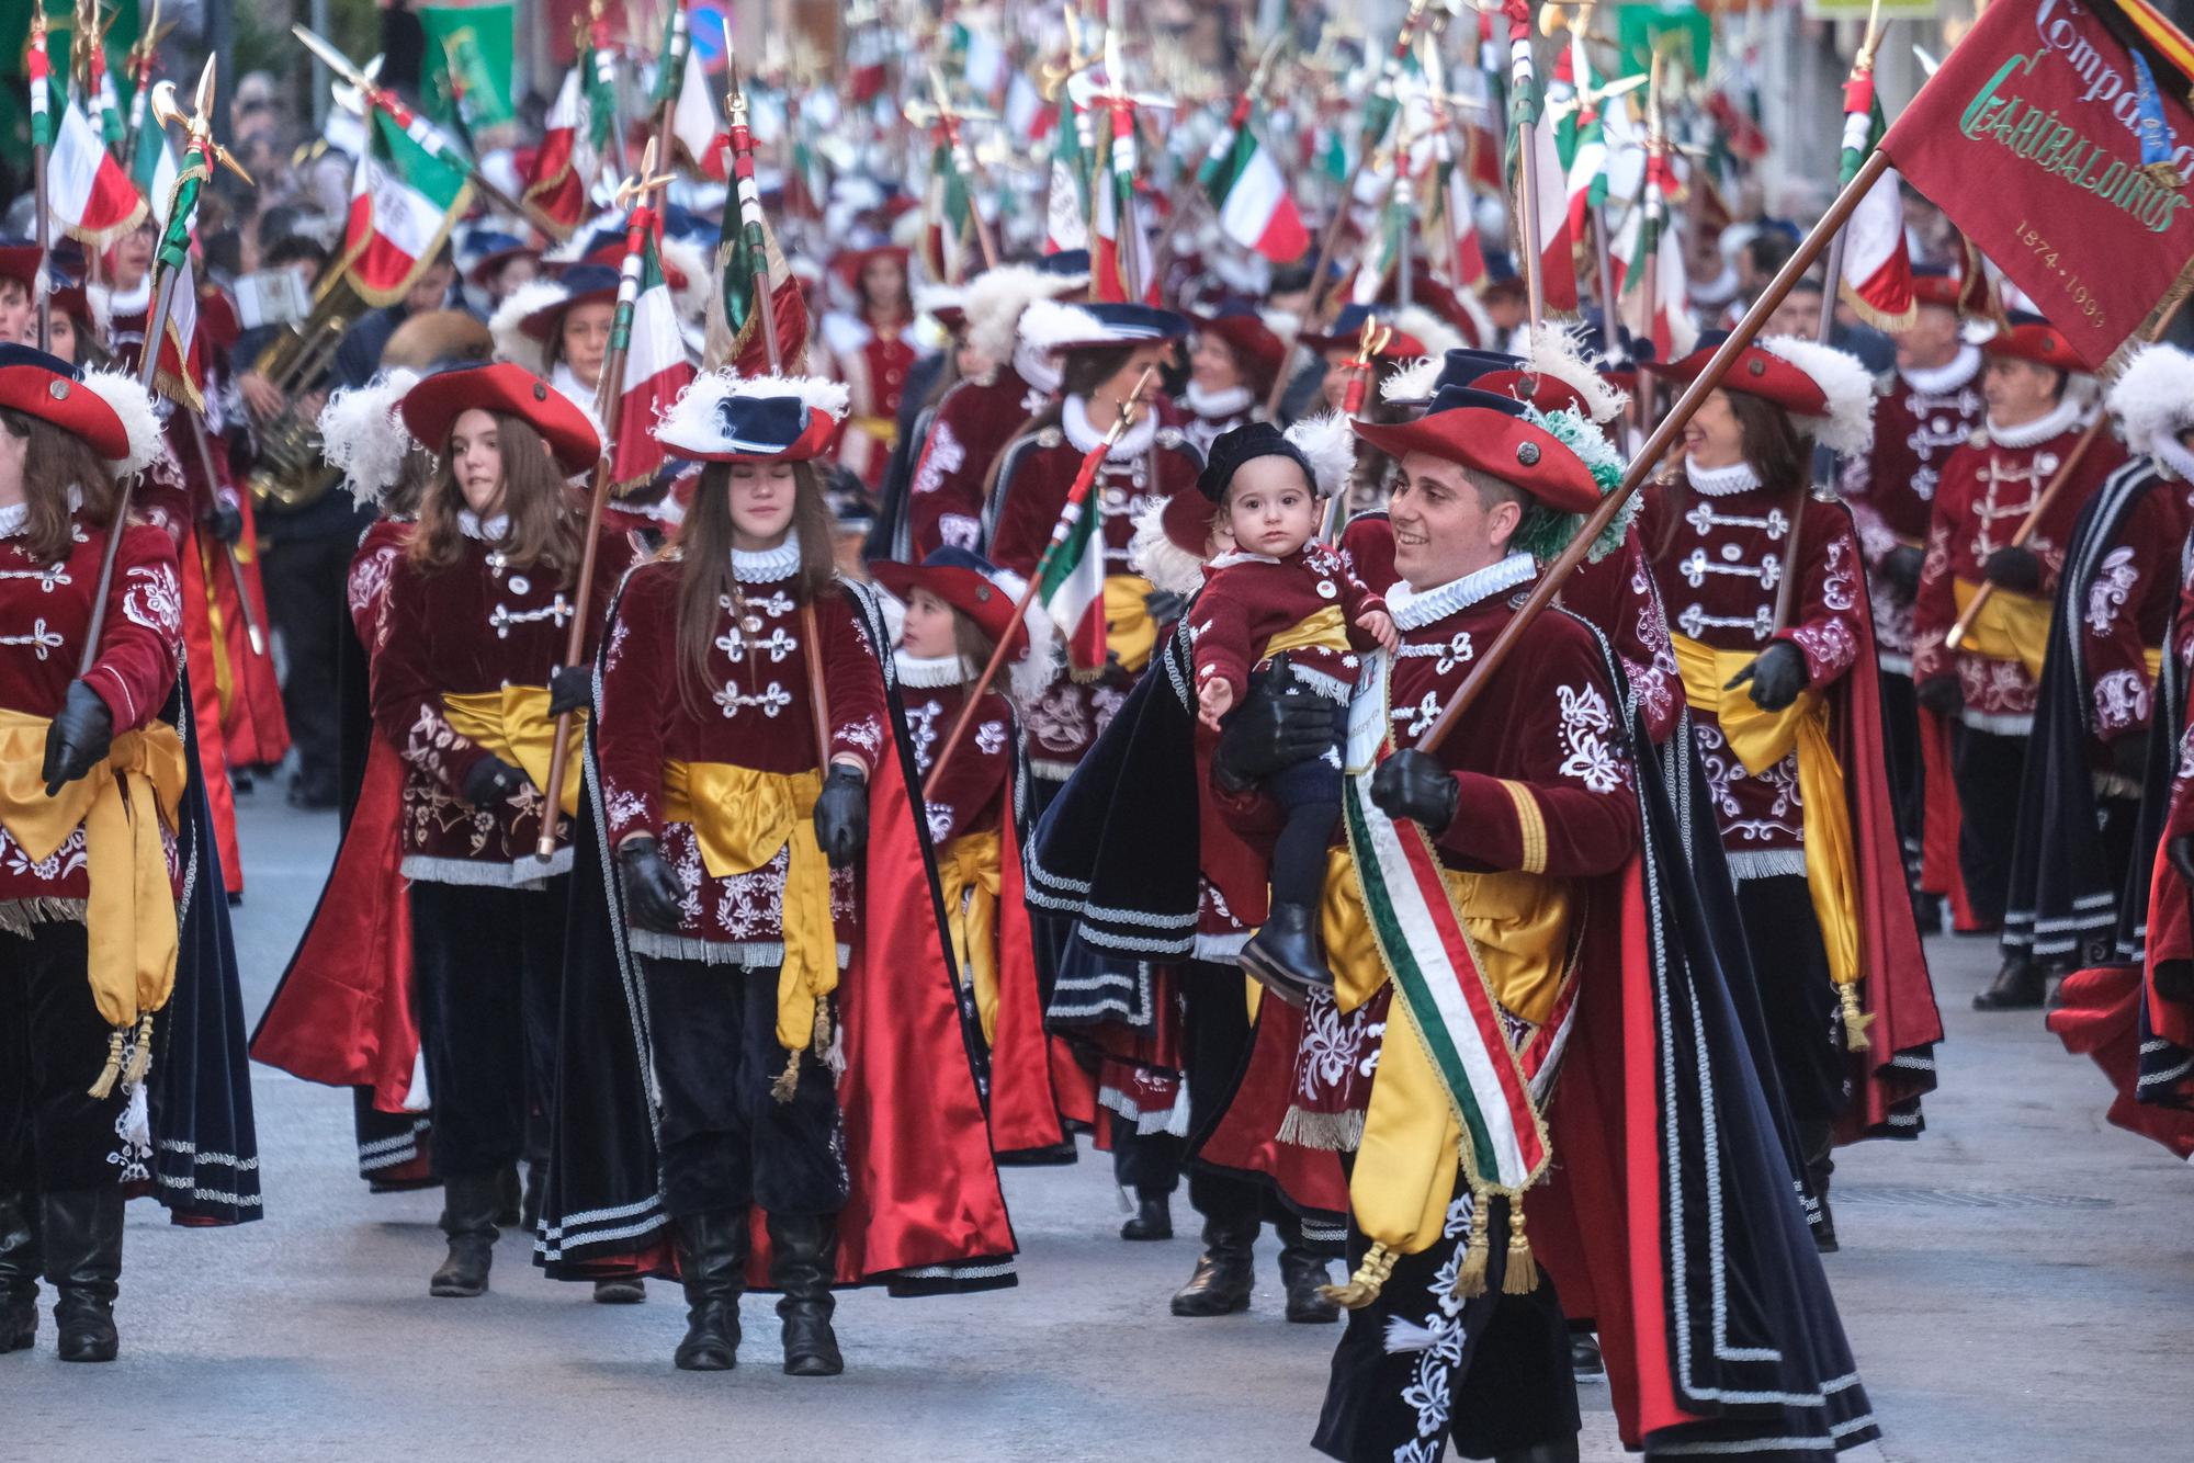
[[[470,202],[465,165],[443,151],[426,118],[375,99],[338,270],[351,272],[366,305],[393,305],[441,252]]]

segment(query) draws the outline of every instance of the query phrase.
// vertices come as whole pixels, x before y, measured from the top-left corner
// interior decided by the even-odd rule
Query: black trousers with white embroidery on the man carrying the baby
[[[1310,1445],[1343,1463],[1398,1456],[1490,1459],[1575,1437],[1577,1380],[1569,1369],[1569,1323],[1553,1279],[1540,1270],[1525,1296],[1501,1294],[1507,1274],[1507,1200],[1492,1200],[1485,1294],[1452,1294],[1457,1250],[1468,1241],[1461,1211],[1448,1209],[1448,1235],[1422,1255],[1404,1255],[1378,1301],[1349,1312],[1325,1410]],[[1349,1230],[1349,1270],[1362,1261],[1362,1235]],[[1389,1338],[1389,1320],[1400,1323]],[[1406,1331],[1402,1327],[1409,1327]],[[1402,1349],[1393,1349],[1402,1342]],[[1415,1448],[1404,1454],[1402,1450]]]

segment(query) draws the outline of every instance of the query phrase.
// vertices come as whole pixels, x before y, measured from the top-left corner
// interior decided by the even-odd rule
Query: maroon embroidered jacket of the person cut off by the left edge
[[[0,509],[0,706],[53,717],[77,678],[83,634],[108,533],[77,518],[77,542],[61,564],[22,551],[20,509]],[[176,689],[182,665],[182,577],[176,546],[149,524],[129,524],[114,555],[114,583],[99,630],[99,658],[86,684],[114,717],[114,730],[151,724]],[[173,862],[173,860],[171,860]],[[50,917],[42,899],[90,897],[83,829],[33,864],[0,827],[0,928]]]

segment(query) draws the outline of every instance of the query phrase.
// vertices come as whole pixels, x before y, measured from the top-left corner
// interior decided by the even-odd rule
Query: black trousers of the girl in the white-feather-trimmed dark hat
[[[805,1053],[792,1101],[770,1092],[788,1062],[777,1044],[777,969],[641,956],[641,974],[663,1088],[663,1206],[674,1217],[753,1204],[816,1217],[845,1209],[829,1066]]]

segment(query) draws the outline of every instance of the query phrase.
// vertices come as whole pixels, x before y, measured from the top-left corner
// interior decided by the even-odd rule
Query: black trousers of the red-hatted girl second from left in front
[[[516,1163],[529,1114],[551,1105],[568,884],[570,875],[546,888],[410,886],[437,1178]]]

